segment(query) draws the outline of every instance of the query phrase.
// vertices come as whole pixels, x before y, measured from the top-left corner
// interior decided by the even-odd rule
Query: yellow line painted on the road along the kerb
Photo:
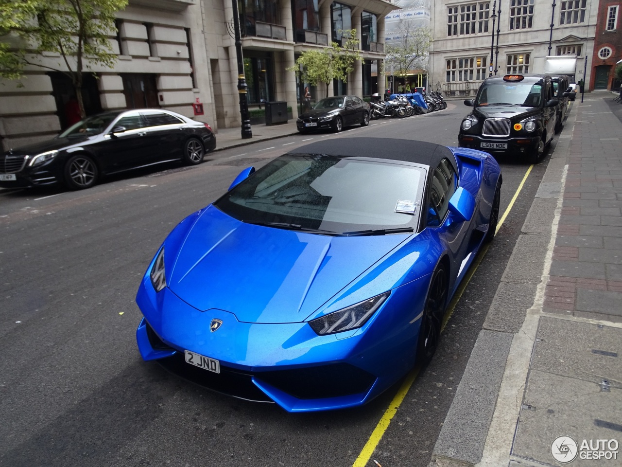
[[[531,173],[531,169],[533,168],[534,166],[532,165],[529,166],[529,169],[527,169],[527,172],[525,172],[524,177],[522,177],[522,181],[519,184],[518,188],[516,189],[516,192],[514,192],[514,196],[510,200],[507,209],[503,213],[503,216],[501,216],[501,219],[499,219],[499,222],[497,224],[497,230],[494,232],[495,234],[499,232],[499,229],[501,229],[501,225],[503,225],[503,222],[505,222],[506,217],[508,217],[509,212],[514,207],[514,202],[516,202],[516,199],[518,198],[518,195],[520,194],[522,187],[527,181],[527,177],[529,176],[529,174]],[[452,301],[450,301],[449,305],[447,306],[447,314],[446,314],[445,319],[443,319],[443,325],[441,327],[441,332],[443,331],[443,329],[445,329],[445,324],[447,324],[447,321],[449,321],[449,319],[451,318],[453,309],[458,303],[458,300],[460,300],[460,297],[462,297],[462,294],[464,293],[468,283],[471,281],[471,278],[475,274],[475,271],[480,266],[481,260],[483,260],[483,258],[486,256],[488,247],[489,245],[486,245],[483,248],[483,250],[481,250],[480,254],[475,260],[475,263],[471,265],[470,271],[466,275],[465,280],[462,281],[462,284],[460,285],[460,287],[458,287],[458,290],[453,296]],[[369,439],[363,446],[363,450],[361,450],[361,453],[356,458],[356,461],[353,463],[352,467],[365,467],[368,464],[369,459],[371,458],[371,455],[373,455],[374,450],[376,450],[376,446],[378,446],[378,443],[382,439],[384,432],[386,432],[387,428],[389,428],[392,418],[397,413],[397,409],[399,408],[402,401],[404,400],[404,397],[406,397],[408,390],[411,389],[411,386],[415,382],[415,379],[417,379],[418,374],[419,374],[419,367],[416,367],[412,369],[411,372],[409,372],[409,374],[406,375],[406,379],[404,379],[404,382],[402,382],[402,385],[399,387],[397,394],[391,400],[389,407],[384,411],[383,416],[380,418],[380,421],[378,422],[378,425],[376,425],[376,428],[374,428],[374,431],[371,432],[371,436],[369,436]]]

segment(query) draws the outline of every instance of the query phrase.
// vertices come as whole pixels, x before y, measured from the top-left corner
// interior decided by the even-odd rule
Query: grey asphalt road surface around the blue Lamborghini
[[[362,408],[297,415],[214,394],[142,361],[137,286],[174,225],[215,200],[244,167],[307,139],[455,145],[467,111],[450,106],[337,135],[217,151],[199,166],[133,172],[83,192],[0,190],[0,465],[353,465],[399,385]],[[529,166],[501,163],[503,213]],[[374,451],[383,467],[427,466],[545,165],[527,178],[434,361]]]

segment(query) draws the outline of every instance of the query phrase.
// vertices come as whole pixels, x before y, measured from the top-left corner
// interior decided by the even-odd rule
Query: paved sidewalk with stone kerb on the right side
[[[622,105],[612,101],[573,105],[430,466],[562,466],[575,455],[572,466],[622,465]]]

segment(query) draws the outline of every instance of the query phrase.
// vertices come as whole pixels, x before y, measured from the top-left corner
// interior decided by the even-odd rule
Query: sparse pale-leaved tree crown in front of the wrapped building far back
[[[430,29],[417,27],[413,21],[401,21],[393,34],[396,39],[385,44],[384,52],[398,74],[405,75],[415,68],[425,70],[432,41]]]

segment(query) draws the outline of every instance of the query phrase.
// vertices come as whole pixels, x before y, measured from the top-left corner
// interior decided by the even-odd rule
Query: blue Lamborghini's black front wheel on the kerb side
[[[419,326],[417,339],[417,363],[426,366],[434,357],[439,347],[440,327],[445,318],[448,296],[448,274],[444,266],[440,265],[432,273],[430,288],[425,298],[425,308]]]

